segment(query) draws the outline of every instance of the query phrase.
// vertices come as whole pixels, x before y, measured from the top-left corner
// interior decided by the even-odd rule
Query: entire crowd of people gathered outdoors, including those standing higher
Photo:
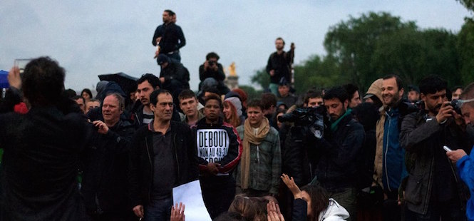
[[[296,96],[294,46],[277,38],[268,93],[227,88],[214,52],[195,93],[175,21],[165,10],[153,36],[160,76],[132,91],[76,96],[48,57],[11,68],[1,220],[192,220],[172,189],[195,180],[212,220],[474,220],[474,83],[405,91],[387,75]]]

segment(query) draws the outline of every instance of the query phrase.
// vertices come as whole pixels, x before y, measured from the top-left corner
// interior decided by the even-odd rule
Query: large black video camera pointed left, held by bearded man
[[[297,108],[292,113],[279,116],[278,121],[282,123],[292,122],[295,126],[307,128],[315,138],[319,139],[324,135],[325,118],[326,108],[319,106],[317,108]]]

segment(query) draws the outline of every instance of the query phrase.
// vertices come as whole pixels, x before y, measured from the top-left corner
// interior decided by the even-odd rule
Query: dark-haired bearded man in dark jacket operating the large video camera
[[[316,139],[321,156],[315,181],[328,190],[329,197],[344,206],[351,217],[356,217],[356,159],[364,143],[364,127],[347,109],[349,96],[343,87],[329,89],[323,99],[331,119],[329,131]]]

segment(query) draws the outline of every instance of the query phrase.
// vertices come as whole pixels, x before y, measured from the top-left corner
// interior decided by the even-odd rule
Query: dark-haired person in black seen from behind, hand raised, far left
[[[23,85],[31,109],[25,115],[0,115],[2,218],[84,220],[77,171],[88,124],[74,101],[61,97],[63,68],[51,58],[37,58],[23,79],[18,68],[9,78],[11,86]]]

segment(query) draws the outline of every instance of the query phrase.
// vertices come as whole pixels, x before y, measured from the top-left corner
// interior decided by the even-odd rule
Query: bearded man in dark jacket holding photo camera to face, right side
[[[406,212],[414,220],[465,220],[466,192],[457,168],[443,150],[467,149],[461,116],[446,98],[446,81],[428,76],[420,83],[424,107],[403,118],[401,146],[406,149]]]

